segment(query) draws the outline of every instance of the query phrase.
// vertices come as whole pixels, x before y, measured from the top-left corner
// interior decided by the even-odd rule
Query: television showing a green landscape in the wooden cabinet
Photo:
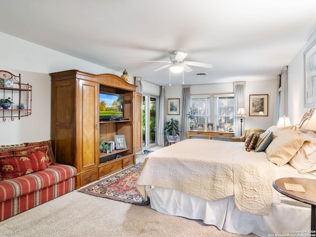
[[[100,92],[100,120],[124,117],[124,95]]]

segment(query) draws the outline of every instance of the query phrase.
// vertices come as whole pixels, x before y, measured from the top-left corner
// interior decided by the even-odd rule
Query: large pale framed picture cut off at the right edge
[[[316,40],[304,52],[304,107],[316,106]]]

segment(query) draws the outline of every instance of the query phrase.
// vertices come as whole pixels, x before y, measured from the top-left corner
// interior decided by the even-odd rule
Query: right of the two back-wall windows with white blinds
[[[215,125],[234,127],[235,97],[234,94],[213,95]]]

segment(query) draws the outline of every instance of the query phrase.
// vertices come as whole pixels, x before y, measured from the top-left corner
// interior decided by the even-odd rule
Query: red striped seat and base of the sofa
[[[44,170],[0,181],[0,221],[75,189],[77,170],[52,164]]]

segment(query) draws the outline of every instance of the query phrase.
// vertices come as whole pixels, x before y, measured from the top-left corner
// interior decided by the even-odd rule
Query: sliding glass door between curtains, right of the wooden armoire
[[[143,149],[157,144],[157,96],[143,94]]]

